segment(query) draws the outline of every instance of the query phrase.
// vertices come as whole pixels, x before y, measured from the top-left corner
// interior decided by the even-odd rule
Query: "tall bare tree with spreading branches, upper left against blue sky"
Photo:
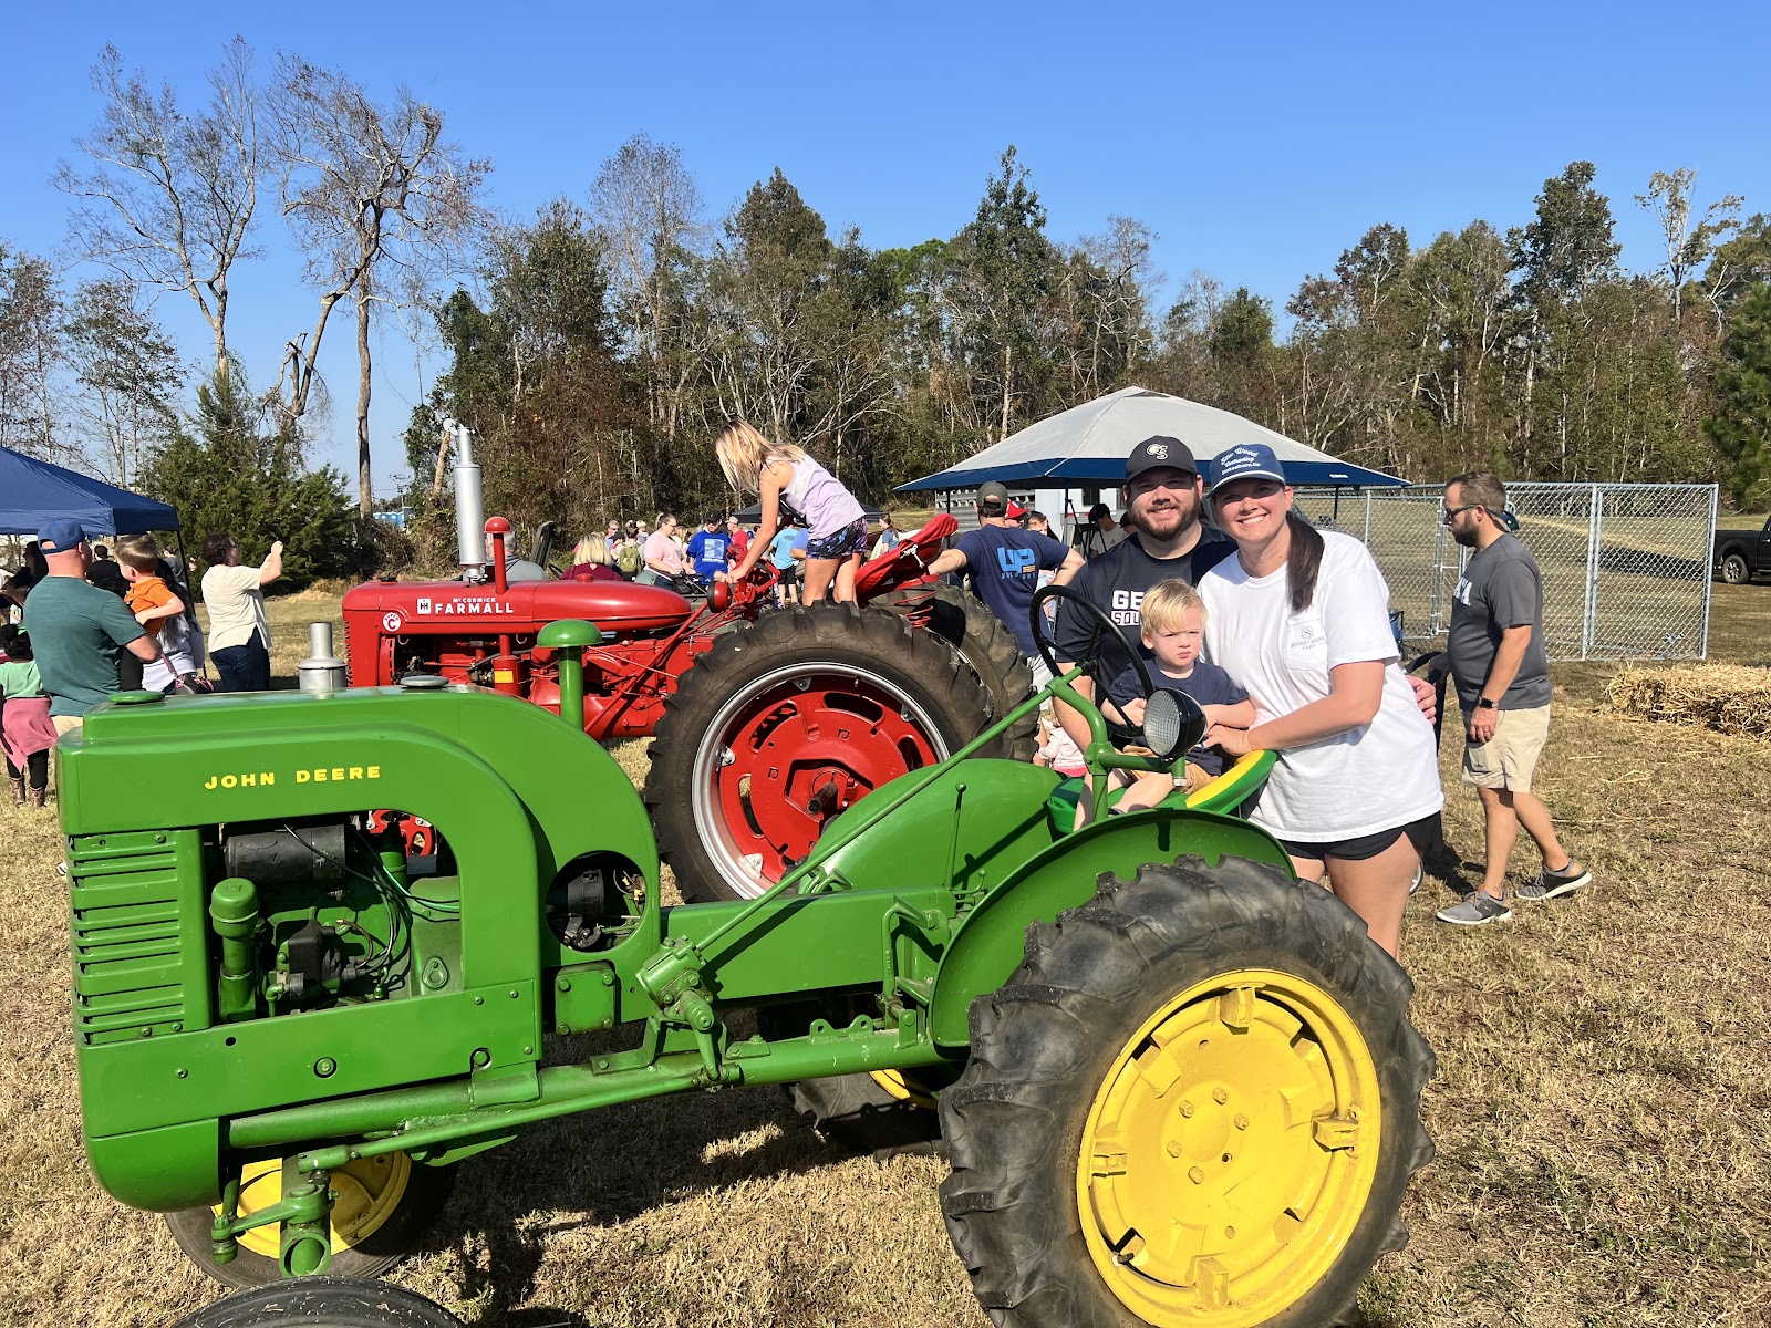
[[[90,170],[60,163],[57,188],[87,200],[69,218],[81,259],[104,262],[136,282],[181,290],[197,301],[227,374],[228,271],[251,257],[246,235],[259,202],[257,90],[251,48],[236,37],[209,73],[209,106],[179,112],[170,85],[149,89],[140,71],[124,74],[106,46],[92,67],[104,97],[97,127],[74,143]]]

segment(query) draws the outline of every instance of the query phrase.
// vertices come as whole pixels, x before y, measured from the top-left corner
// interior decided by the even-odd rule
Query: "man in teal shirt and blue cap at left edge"
[[[159,643],[142,630],[110,591],[87,584],[92,547],[78,521],[51,521],[37,531],[50,575],[25,604],[25,629],[50,698],[57,733],[80,728],[87,710],[117,691],[117,655],[159,659]]]

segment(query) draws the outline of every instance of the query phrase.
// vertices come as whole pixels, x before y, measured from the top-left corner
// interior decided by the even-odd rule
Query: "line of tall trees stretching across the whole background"
[[[1620,266],[1612,200],[1576,161],[1518,225],[1417,243],[1380,221],[1275,312],[1201,271],[1164,297],[1144,221],[1054,237],[1013,147],[953,235],[875,250],[832,234],[779,168],[712,214],[680,151],[646,135],[581,197],[498,216],[491,163],[448,142],[441,110],[289,53],[260,78],[237,39],[195,101],[112,48],[94,87],[99,120],[55,181],[66,259],[103,274],[64,290],[48,259],[0,244],[0,441],[193,505],[198,528],[244,519],[218,510],[241,476],[301,482],[303,503],[328,496],[331,545],[388,554],[352,526],[345,476],[305,466],[335,310],[358,351],[356,515],[374,508],[372,452],[404,446],[400,501],[439,540],[452,459],[436,413],[478,430],[492,508],[579,529],[730,503],[707,439],[733,416],[886,498],[1132,382],[1410,480],[1489,466],[1771,498],[1771,218],[1743,216],[1737,195],[1704,202],[1690,168],[1633,198],[1661,239],[1649,271]],[[282,218],[313,305],[253,356],[275,367],[255,390],[228,313],[260,212]],[[202,367],[159,329],[165,294],[213,333]],[[446,365],[398,444],[368,429],[384,319]],[[296,529],[292,510],[251,515]]]

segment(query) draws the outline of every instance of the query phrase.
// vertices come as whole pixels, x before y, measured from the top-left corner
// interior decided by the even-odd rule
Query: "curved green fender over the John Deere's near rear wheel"
[[[1245,857],[1291,871],[1286,850],[1266,830],[1211,811],[1155,807],[1068,834],[1029,857],[960,919],[935,972],[930,1002],[935,1043],[971,1041],[972,1000],[995,992],[1020,967],[1032,923],[1054,923],[1066,908],[1087,903],[1105,875],[1133,880],[1146,862],[1172,862],[1188,853],[1208,866]]]

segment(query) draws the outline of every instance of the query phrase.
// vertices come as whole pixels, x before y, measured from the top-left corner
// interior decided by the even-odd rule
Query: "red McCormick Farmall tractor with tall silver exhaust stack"
[[[510,522],[482,519],[471,434],[455,436],[462,577],[351,590],[351,685],[430,673],[558,712],[558,659],[535,637],[565,618],[595,623],[602,641],[581,652],[584,731],[599,742],[655,737],[645,802],[689,899],[760,894],[861,797],[942,761],[1032,692],[1013,634],[928,575],[953,517],[866,563],[861,607],[777,609],[762,568],[705,598],[615,581],[507,581]],[[1032,728],[1027,719],[985,754],[1031,758]]]

